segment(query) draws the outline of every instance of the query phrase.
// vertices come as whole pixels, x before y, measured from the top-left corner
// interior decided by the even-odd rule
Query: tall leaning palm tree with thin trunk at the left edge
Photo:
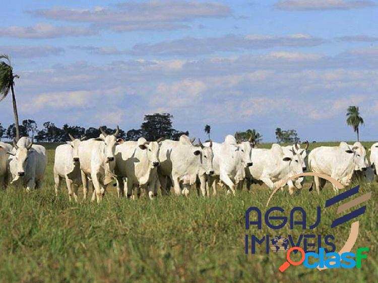
[[[0,101],[7,97],[9,91],[12,91],[13,100],[13,113],[15,115],[16,124],[16,139],[20,138],[17,104],[15,96],[15,78],[20,78],[18,75],[13,74],[13,67],[11,65],[11,59],[8,55],[0,55]]]

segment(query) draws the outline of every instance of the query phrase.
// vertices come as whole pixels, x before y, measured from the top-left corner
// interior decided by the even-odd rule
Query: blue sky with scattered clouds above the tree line
[[[302,139],[378,139],[378,1],[8,1],[0,53],[11,55],[20,119],[174,127],[215,140],[256,128]],[[0,122],[13,122],[11,99]]]

